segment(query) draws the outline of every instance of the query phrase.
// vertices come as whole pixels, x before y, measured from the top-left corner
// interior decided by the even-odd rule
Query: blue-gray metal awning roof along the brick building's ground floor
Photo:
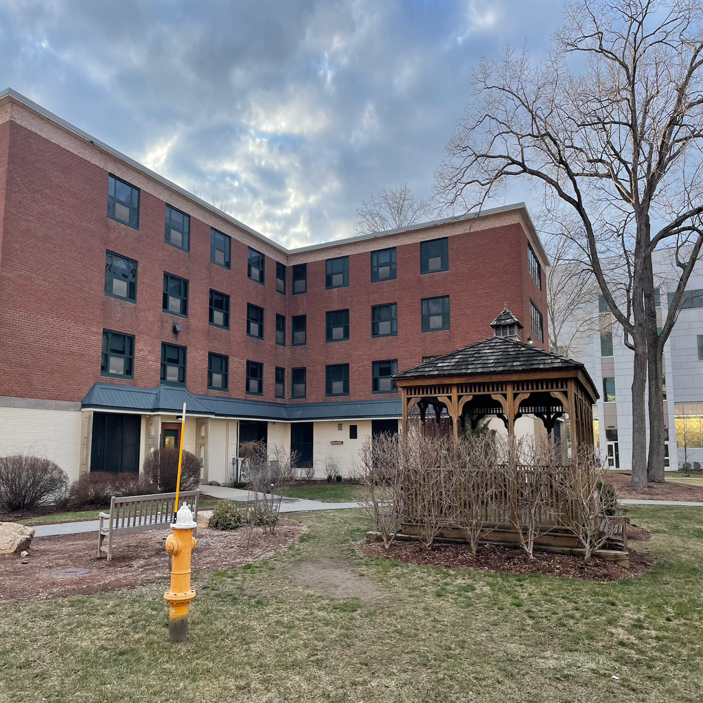
[[[283,404],[250,399],[223,398],[191,393],[185,388],[160,385],[157,388],[96,383],[82,401],[83,408],[138,413],[180,413],[183,403],[189,415],[214,415],[251,420],[344,420],[400,418],[399,398],[327,403]]]

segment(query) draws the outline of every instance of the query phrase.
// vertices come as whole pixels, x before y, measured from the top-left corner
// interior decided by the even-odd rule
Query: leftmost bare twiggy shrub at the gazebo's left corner
[[[373,517],[386,549],[400,529],[405,466],[404,445],[397,434],[367,437],[354,466],[354,476],[366,488],[359,510]]]

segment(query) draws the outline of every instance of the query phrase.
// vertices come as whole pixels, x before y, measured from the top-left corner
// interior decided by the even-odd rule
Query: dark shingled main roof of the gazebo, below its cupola
[[[524,342],[491,337],[469,344],[451,354],[437,356],[419,366],[408,368],[394,378],[432,378],[467,374],[511,373],[522,371],[576,369],[586,372],[579,361],[546,352]],[[590,380],[590,377],[589,377]],[[591,381],[591,384],[593,382]]]

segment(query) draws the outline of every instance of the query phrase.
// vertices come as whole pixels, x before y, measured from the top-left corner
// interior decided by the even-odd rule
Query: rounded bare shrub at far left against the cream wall
[[[0,457],[0,508],[32,510],[63,498],[68,476],[58,464],[41,456]]]

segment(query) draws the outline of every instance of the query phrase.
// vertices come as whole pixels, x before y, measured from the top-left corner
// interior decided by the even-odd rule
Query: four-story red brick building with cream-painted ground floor
[[[547,263],[522,204],[286,250],[4,91],[0,451],[138,470],[186,401],[203,478],[254,437],[348,464],[504,304],[543,346]]]

